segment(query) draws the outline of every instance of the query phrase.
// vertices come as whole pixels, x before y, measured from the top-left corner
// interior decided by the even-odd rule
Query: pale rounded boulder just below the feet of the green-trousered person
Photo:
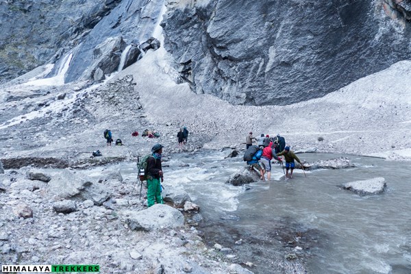
[[[179,210],[157,203],[147,210],[138,212],[129,212],[125,220],[129,229],[151,231],[163,228],[182,227],[184,225],[184,216]]]

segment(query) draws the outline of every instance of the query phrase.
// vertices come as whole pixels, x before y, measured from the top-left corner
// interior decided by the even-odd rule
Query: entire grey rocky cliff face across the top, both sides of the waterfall
[[[65,82],[100,81],[136,62],[162,20],[164,47],[193,91],[286,105],[409,59],[410,18],[411,0],[8,0],[0,82],[46,62],[56,75],[69,53]]]

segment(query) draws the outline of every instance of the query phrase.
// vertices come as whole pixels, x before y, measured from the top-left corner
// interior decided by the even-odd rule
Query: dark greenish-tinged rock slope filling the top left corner
[[[55,62],[120,1],[0,1],[0,83]]]

